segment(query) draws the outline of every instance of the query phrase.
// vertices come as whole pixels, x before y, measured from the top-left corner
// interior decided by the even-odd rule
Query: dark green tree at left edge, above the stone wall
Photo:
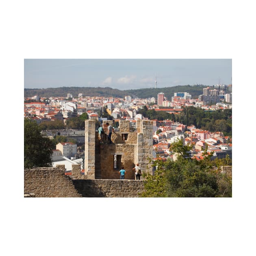
[[[41,135],[35,121],[24,119],[24,168],[51,167],[52,141]]]

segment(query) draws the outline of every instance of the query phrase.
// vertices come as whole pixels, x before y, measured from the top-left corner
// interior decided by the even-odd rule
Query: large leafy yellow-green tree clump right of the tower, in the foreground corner
[[[179,153],[177,160],[154,162],[155,174],[143,174],[142,197],[232,197],[232,177],[216,169],[207,148],[202,161],[185,157],[189,147],[184,146],[182,140],[173,143],[171,148]],[[230,164],[229,158],[222,161]]]

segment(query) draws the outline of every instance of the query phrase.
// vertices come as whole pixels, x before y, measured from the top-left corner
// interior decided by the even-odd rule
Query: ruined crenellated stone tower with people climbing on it
[[[113,126],[113,121],[103,121]],[[106,128],[104,128],[105,130]],[[88,179],[119,179],[122,166],[126,170],[126,179],[135,179],[132,170],[139,163],[141,172],[152,174],[153,122],[137,120],[136,131],[130,131],[130,121],[119,122],[119,132],[112,133],[113,144],[104,144],[98,140],[95,120],[85,120],[85,175]]]

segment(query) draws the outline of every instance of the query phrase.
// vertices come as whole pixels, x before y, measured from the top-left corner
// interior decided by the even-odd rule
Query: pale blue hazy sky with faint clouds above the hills
[[[140,89],[232,82],[232,59],[24,59],[24,88]]]

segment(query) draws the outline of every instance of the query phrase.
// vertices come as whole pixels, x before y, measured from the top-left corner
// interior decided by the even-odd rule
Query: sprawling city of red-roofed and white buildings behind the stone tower
[[[155,81],[155,89],[157,82]],[[176,153],[170,148],[172,143],[182,140],[184,145],[191,145],[189,157],[200,161],[204,158],[204,150],[215,158],[232,159],[232,126],[229,130],[206,130],[195,124],[185,124],[179,116],[186,109],[197,108],[206,113],[226,111],[227,124],[232,124],[232,84],[217,84],[202,87],[202,94],[192,98],[189,92],[177,92],[174,95],[158,93],[157,98],[124,98],[86,96],[82,93],[66,97],[33,97],[24,98],[24,118],[35,121],[41,128],[41,134],[55,139],[56,147],[52,150],[52,166],[65,165],[65,175],[72,175],[72,165],[80,164],[80,174],[85,174],[85,128],[83,122],[75,124],[79,117],[95,120],[102,126],[111,120],[114,131],[119,131],[119,122],[128,121],[129,131],[136,131],[138,120],[151,120],[153,161],[176,160]],[[144,111],[144,112],[143,112]],[[168,118],[149,118],[148,111],[167,114]],[[73,122],[72,122],[73,121]],[[56,125],[54,127],[54,125]],[[221,126],[219,126],[221,127]],[[97,132],[98,129],[95,129]],[[57,139],[57,141],[56,141]],[[108,143],[107,138],[104,143]],[[110,178],[106,177],[106,178]]]

